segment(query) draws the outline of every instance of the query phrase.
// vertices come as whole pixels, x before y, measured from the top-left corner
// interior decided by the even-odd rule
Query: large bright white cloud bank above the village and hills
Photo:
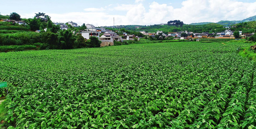
[[[170,20],[181,20],[185,24],[195,22],[218,22],[220,20],[240,20],[256,15],[256,2],[245,3],[234,0],[186,0],[181,8],[174,9],[172,5],[150,3],[148,7],[142,3],[117,4],[113,8],[86,8],[85,12],[70,12],[64,14],[47,13],[54,22],[73,21],[78,25],[93,24],[95,26],[113,25],[150,25],[167,23]],[[120,13],[124,11],[126,13]],[[118,12],[119,15],[116,15]],[[21,14],[21,17],[33,18],[35,13]]]

